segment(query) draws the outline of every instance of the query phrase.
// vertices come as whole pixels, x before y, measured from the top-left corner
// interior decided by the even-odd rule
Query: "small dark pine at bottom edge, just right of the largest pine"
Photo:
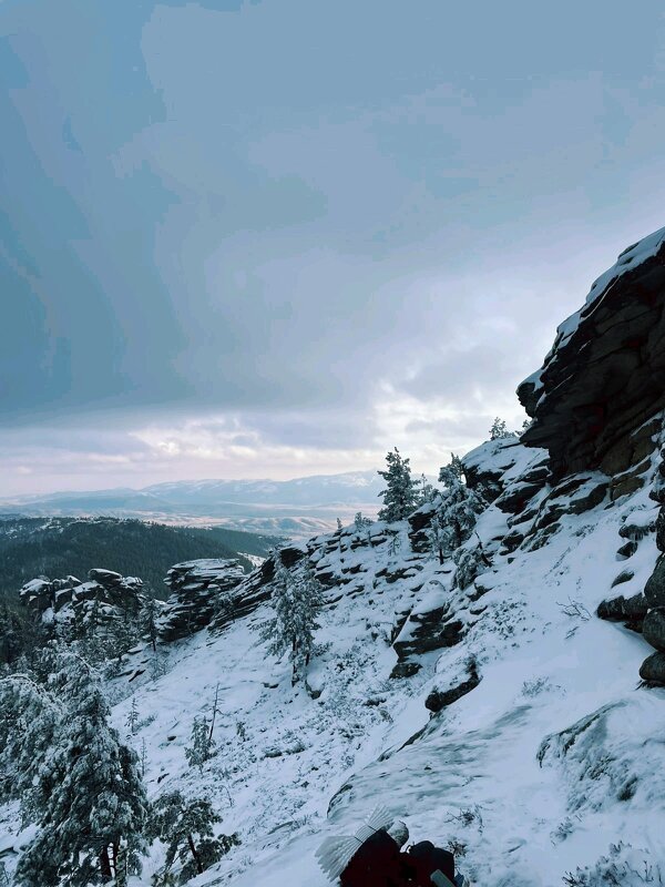
[[[237,834],[214,837],[213,826],[221,822],[206,798],[186,801],[177,791],[162,795],[153,807],[149,836],[166,845],[165,873],[177,859],[180,883],[185,884],[239,845]]]

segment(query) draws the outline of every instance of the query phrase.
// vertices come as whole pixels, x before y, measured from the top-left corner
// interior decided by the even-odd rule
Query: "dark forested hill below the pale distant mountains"
[[[197,558],[266,557],[277,537],[257,536],[219,527],[166,527],[117,518],[0,519],[0,600],[13,602],[30,579],[75,575],[85,580],[94,567],[137,575],[165,598],[166,570]]]

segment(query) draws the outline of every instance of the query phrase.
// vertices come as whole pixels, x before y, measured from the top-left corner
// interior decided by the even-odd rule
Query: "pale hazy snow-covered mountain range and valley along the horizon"
[[[0,499],[0,516],[137,518],[164,523],[218,524],[260,533],[311,536],[375,517],[383,480],[376,471],[294,480],[183,480],[142,489],[116,488]]]

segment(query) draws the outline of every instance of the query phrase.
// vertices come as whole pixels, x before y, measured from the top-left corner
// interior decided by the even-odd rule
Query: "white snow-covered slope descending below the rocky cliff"
[[[493,443],[472,458],[529,466],[533,453],[513,446],[507,460]],[[191,884],[324,887],[317,847],[354,834],[377,805],[405,819],[412,840],[456,844],[479,887],[665,883],[665,690],[638,687],[652,652],[642,636],[595,616],[603,599],[644,587],[653,533],[620,561],[618,529],[628,516],[643,527],[655,514],[648,487],[565,514],[542,548],[494,553],[479,580],[490,590],[475,601],[473,585],[450,591],[450,562],[411,552],[406,522],[390,527],[397,544],[356,550],[347,528],[325,559],[334,537],[317,540],[319,567],[350,580],[327,591],[320,615],[308,682],[318,699],[293,689],[288,662],[266,654],[254,631],[266,605],[217,636],[171,645],[160,680],[119,685],[116,726],[126,733],[134,693],[142,725],[131,743],[139,753],[145,744],[151,796],[206,795],[224,817],[219,830],[241,835],[242,846]],[[382,529],[371,527],[375,542]],[[478,531],[497,552],[505,516],[490,507]],[[611,590],[627,568],[633,578]],[[416,675],[390,679],[391,638],[409,613],[442,600],[464,639],[418,656]],[[430,716],[428,694],[463,681],[472,659],[480,684]],[[218,753],[201,774],[184,746],[217,684]],[[149,885],[162,858],[153,847],[132,884]]]

